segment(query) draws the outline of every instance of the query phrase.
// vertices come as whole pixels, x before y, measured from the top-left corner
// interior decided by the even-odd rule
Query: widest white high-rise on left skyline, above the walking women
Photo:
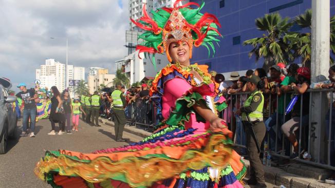
[[[60,91],[65,89],[65,65],[54,59],[46,59],[45,65],[36,69],[36,79],[41,81],[41,87],[56,86]]]

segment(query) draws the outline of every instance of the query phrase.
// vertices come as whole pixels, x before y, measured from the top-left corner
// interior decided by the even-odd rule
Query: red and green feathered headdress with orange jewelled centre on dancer
[[[156,53],[165,52],[167,59],[172,62],[169,54],[169,45],[172,42],[185,41],[189,44],[191,51],[193,45],[195,47],[202,45],[208,49],[208,55],[210,55],[211,49],[213,54],[215,53],[213,42],[219,42],[217,37],[221,36],[217,30],[217,26],[221,27],[217,18],[213,14],[200,13],[204,2],[201,6],[197,3],[178,6],[181,1],[183,0],[177,0],[174,3],[174,8],[163,7],[152,11],[153,18],[148,16],[145,6],[143,6],[143,16],[137,21],[131,19],[136,26],[145,30],[143,34],[139,35],[139,38],[143,39],[144,42],[137,45],[136,50],[139,50],[139,54],[141,52],[144,52],[144,55],[146,53],[153,54],[155,69]],[[198,8],[193,9],[190,7],[191,5]],[[192,53],[190,53],[190,58],[192,58]]]

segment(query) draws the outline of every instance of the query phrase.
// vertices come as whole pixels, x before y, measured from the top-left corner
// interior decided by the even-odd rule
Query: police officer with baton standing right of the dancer
[[[244,106],[237,110],[237,114],[241,114],[242,123],[247,136],[247,149],[250,160],[250,179],[247,181],[249,185],[256,185],[257,187],[266,187],[264,179],[263,164],[259,158],[259,151],[256,145],[256,136],[258,144],[261,145],[265,137],[265,124],[263,122],[263,105],[264,96],[258,89],[264,88],[264,81],[259,77],[252,75],[249,78],[247,89],[251,92],[249,98]],[[248,120],[248,116],[250,121]],[[254,133],[251,129],[253,123]]]

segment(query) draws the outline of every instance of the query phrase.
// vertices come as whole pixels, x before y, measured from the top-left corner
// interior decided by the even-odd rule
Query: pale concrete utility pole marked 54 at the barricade
[[[330,0],[312,0],[312,59],[311,82],[325,81],[329,69]],[[310,153],[322,161],[325,155],[324,129],[328,99],[325,92],[311,92]]]

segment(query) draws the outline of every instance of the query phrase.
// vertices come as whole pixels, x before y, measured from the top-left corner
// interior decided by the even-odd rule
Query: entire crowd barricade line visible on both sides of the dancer
[[[296,161],[322,166],[324,168],[328,168],[331,170],[335,170],[335,166],[331,165],[330,161],[332,158],[335,158],[334,152],[331,151],[331,145],[335,144],[333,137],[331,136],[334,129],[332,124],[335,124],[335,118],[333,120],[332,116],[335,115],[335,111],[333,112],[332,101],[333,101],[333,89],[308,89],[306,92],[310,93],[309,95],[309,114],[308,114],[308,126],[303,125],[302,121],[302,112],[303,112],[303,95],[300,96],[301,102],[300,104],[300,125],[299,129],[297,129],[296,139],[299,142],[299,154],[306,148],[306,152],[309,157],[307,159],[303,159],[300,157],[296,159]],[[284,104],[287,104],[291,98],[288,95],[292,95],[293,93],[285,93],[284,94]],[[240,117],[235,116],[234,111],[243,105],[243,100],[246,100],[249,95],[249,92],[243,93],[234,93],[232,95],[226,96],[226,100],[230,101],[228,108],[224,111],[221,111],[219,114],[220,118],[226,119],[229,128],[234,132],[234,144],[235,146],[240,147],[241,149],[246,148],[245,146],[245,134],[243,124],[240,121]],[[264,121],[266,121],[269,117],[272,117],[273,113],[278,111],[278,102],[280,96],[277,95],[264,95],[265,96],[265,106],[264,109]],[[328,96],[328,97],[327,97]],[[315,104],[312,103],[314,97],[319,97],[323,101],[327,102],[325,106],[328,110],[329,122],[326,124],[324,122],[326,114],[319,108],[315,108]],[[320,101],[321,103],[322,101]],[[317,102],[318,103],[318,102]],[[284,105],[285,111],[286,105]],[[334,107],[335,109],[335,107]],[[157,120],[157,109],[148,99],[137,99],[135,102],[129,104],[127,106],[126,117],[128,122],[131,125],[135,125],[139,128],[144,128],[148,131],[153,131],[154,126],[158,123]],[[315,115],[317,113],[317,115]],[[319,114],[318,114],[319,113]],[[320,116],[323,118],[323,123],[317,124],[312,121],[314,116]],[[323,117],[322,117],[323,116]],[[335,117],[335,116],[334,116]],[[289,155],[292,153],[292,144],[288,141],[288,139],[282,134],[281,126],[282,123],[287,122],[290,119],[289,115],[283,115],[282,120],[280,120],[279,115],[277,114],[275,118],[275,125],[267,130],[267,135],[265,140],[269,144],[269,149],[272,156],[289,158]],[[334,122],[333,122],[334,121]],[[335,126],[335,125],[334,125]],[[263,146],[262,146],[263,148]],[[335,148],[335,145],[334,145]],[[311,156],[310,156],[311,155]]]

